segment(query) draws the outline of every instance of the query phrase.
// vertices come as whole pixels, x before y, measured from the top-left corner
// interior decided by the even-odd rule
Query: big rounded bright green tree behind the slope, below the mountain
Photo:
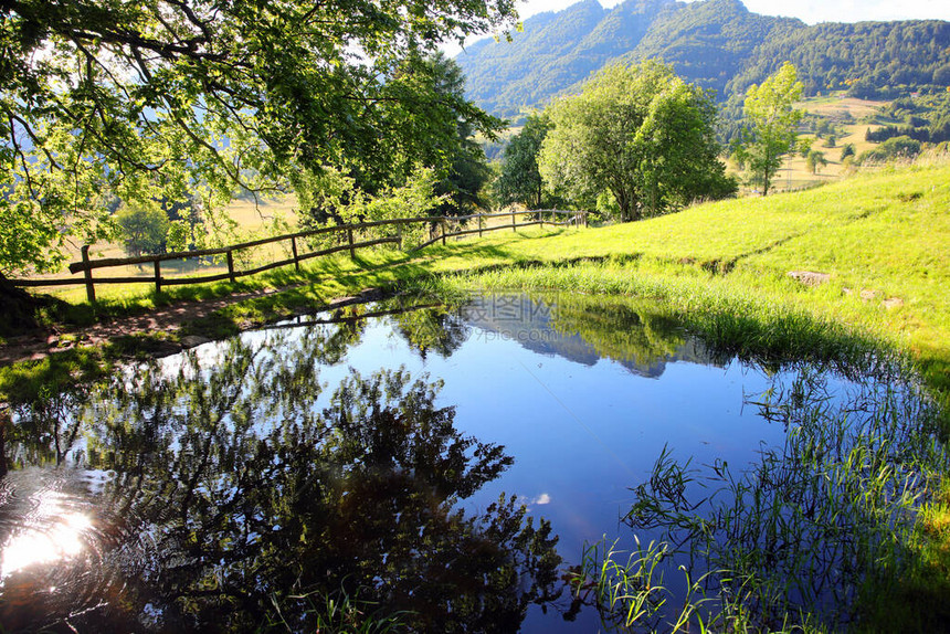
[[[715,108],[669,66],[606,66],[547,110],[538,159],[546,183],[593,201],[609,191],[623,221],[733,189],[719,160]]]

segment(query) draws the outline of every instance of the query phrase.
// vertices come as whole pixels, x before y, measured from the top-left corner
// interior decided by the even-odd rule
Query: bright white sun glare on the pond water
[[[93,522],[82,513],[65,510],[61,495],[42,494],[38,514],[55,520],[51,527],[28,527],[7,540],[0,556],[0,579],[36,563],[74,557],[85,548],[82,537]]]

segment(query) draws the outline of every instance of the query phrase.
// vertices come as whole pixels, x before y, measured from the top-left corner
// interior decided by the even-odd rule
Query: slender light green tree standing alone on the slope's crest
[[[793,104],[802,96],[802,88],[795,66],[785,62],[774,75],[746,93],[747,127],[739,149],[752,181],[762,187],[762,196],[768,196],[782,157],[796,147],[802,113]]]

